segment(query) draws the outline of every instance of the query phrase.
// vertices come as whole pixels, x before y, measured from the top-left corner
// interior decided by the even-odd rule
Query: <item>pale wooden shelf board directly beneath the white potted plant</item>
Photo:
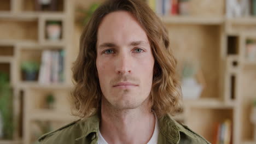
[[[184,106],[200,107],[200,108],[211,108],[211,109],[232,109],[235,103],[224,103],[218,99],[198,99],[198,100],[185,100]]]

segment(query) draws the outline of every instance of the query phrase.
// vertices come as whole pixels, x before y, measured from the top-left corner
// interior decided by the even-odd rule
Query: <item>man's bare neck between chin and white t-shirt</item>
[[[100,131],[108,143],[147,143],[153,135],[155,117],[149,100],[136,109],[114,109],[102,100]]]

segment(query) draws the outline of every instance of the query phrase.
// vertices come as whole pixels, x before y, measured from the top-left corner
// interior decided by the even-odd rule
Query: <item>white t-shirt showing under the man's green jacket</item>
[[[155,129],[151,139],[147,144],[155,144],[158,143],[158,134],[159,134],[159,126],[158,126],[158,118],[155,116]],[[101,131],[98,131],[98,144],[108,144],[104,137],[101,135]]]

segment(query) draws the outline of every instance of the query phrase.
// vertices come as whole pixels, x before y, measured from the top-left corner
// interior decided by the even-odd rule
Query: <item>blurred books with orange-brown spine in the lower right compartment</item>
[[[232,143],[232,125],[230,119],[223,123],[217,123],[214,131],[213,144],[231,144]]]

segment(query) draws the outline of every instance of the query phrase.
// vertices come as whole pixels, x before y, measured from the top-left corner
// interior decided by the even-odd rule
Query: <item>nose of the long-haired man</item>
[[[129,74],[131,73],[131,57],[129,54],[120,52],[119,55],[115,59],[116,67],[115,71],[117,74]]]

